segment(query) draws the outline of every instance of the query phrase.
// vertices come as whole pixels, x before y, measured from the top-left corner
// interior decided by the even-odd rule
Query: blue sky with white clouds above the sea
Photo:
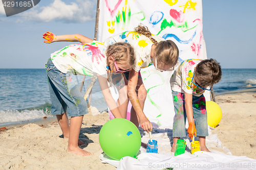
[[[202,0],[208,58],[222,68],[256,68],[256,1]],[[0,2],[0,68],[44,68],[50,54],[70,42],[44,43],[42,34],[94,38],[96,0],[48,0],[6,17]]]

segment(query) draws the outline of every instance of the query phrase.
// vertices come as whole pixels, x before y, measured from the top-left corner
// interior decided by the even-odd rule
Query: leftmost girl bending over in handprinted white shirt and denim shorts
[[[111,84],[113,74],[128,71],[134,64],[134,48],[128,43],[116,43],[108,47],[97,41],[71,44],[51,54],[45,64],[52,101],[51,113],[56,115],[64,139],[69,139],[68,152],[82,156],[93,155],[78,147],[82,118],[88,109],[71,73],[98,76],[106,104],[115,117],[122,118],[123,113],[110,93],[108,81]],[[118,82],[114,79],[113,84]],[[128,101],[125,86],[117,89],[120,96],[118,100]],[[67,112],[71,116],[70,125]]]

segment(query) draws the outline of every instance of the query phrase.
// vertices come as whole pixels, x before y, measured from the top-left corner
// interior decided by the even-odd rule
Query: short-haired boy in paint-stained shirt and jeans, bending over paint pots
[[[204,91],[221,80],[221,66],[214,59],[183,61],[175,70],[170,79],[174,101],[173,147],[175,152],[177,140],[186,137],[186,117],[189,127],[187,129],[190,139],[199,136],[201,151],[210,152],[205,145],[208,136],[207,113]]]

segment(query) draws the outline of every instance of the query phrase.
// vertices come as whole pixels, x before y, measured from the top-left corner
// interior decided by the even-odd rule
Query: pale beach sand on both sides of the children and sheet
[[[216,102],[223,116],[211,132],[232,155],[256,159],[256,88],[217,95]],[[99,158],[98,135],[108,120],[108,113],[99,114],[94,107],[84,115],[80,139],[87,144],[81,148],[94,153],[86,157],[66,151],[68,141],[63,141],[56,118],[7,126],[0,130],[0,169],[116,169]]]

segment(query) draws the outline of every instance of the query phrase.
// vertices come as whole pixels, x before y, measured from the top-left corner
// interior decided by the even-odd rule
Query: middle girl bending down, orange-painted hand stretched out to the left
[[[56,36],[50,32],[45,33],[43,38],[47,40],[45,41],[46,43],[56,41],[80,41],[86,43],[93,41],[80,34]],[[160,36],[152,35],[147,27],[141,25],[135,28],[135,31],[126,31],[109,37],[104,41],[104,44],[111,45],[116,42],[127,42],[135,48],[136,64],[132,67],[129,74],[125,74],[126,78],[129,79],[127,94],[133,105],[131,121],[137,127],[140,124],[143,130],[149,132],[153,127],[143,112],[147,92],[139,71],[141,68],[151,66],[152,64],[160,71],[174,70],[174,66],[179,58],[178,47],[171,40],[165,40]]]

